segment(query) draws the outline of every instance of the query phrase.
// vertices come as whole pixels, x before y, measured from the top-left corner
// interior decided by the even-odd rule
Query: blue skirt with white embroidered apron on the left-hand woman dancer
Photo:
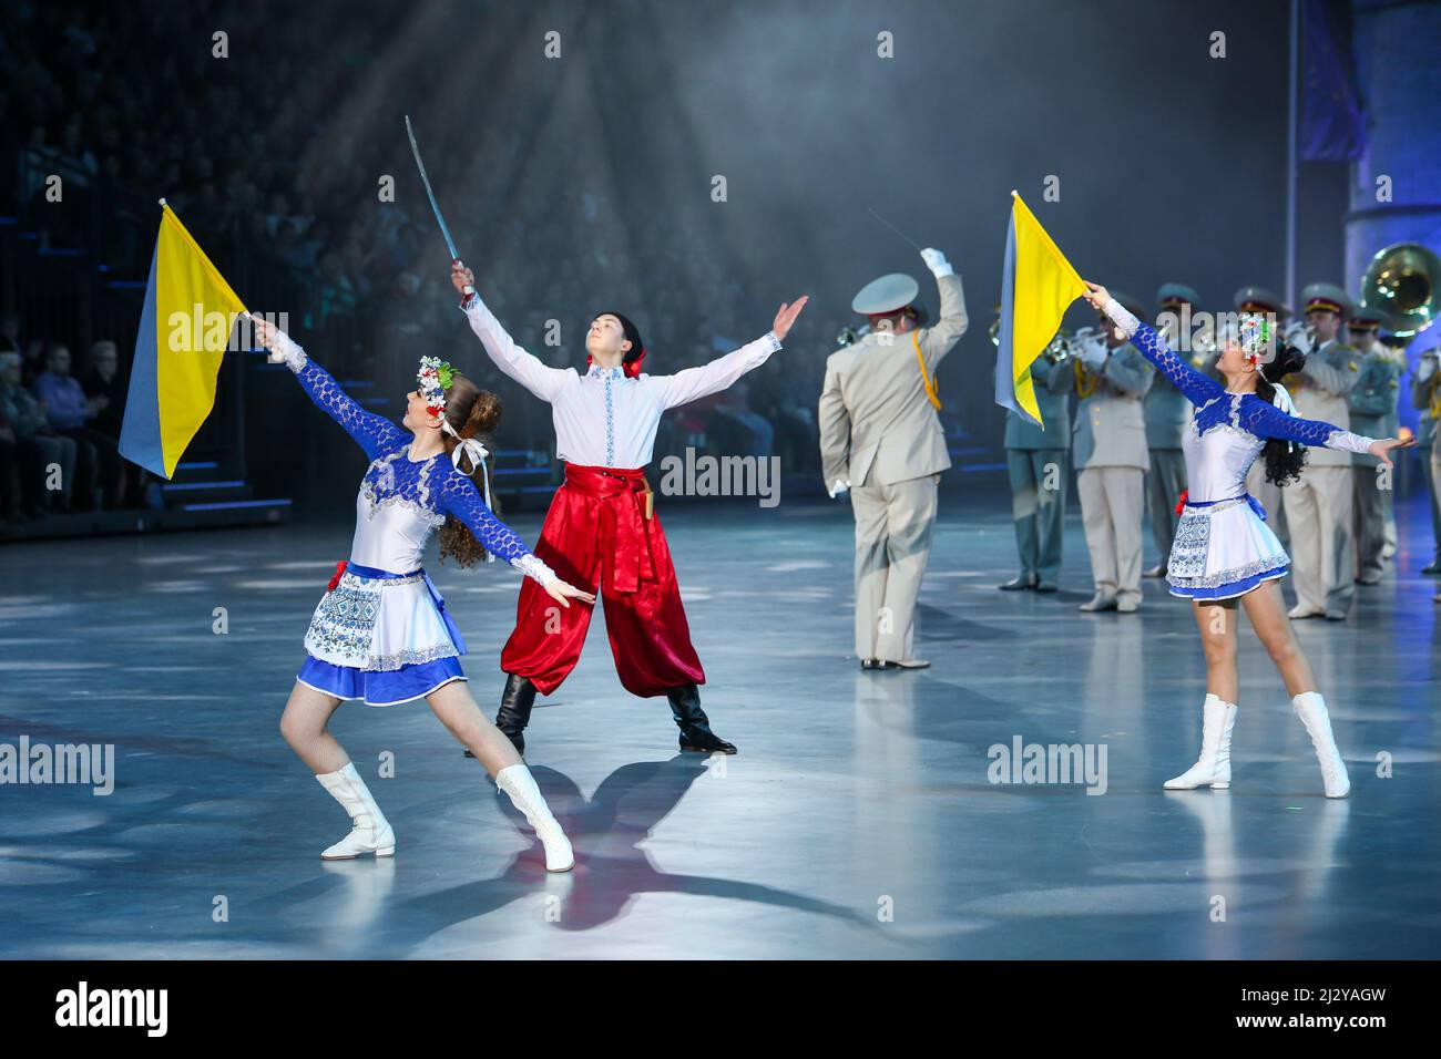
[[[465,641],[424,571],[392,573],[346,563],[305,633],[295,679],[337,699],[393,706],[465,680]]]

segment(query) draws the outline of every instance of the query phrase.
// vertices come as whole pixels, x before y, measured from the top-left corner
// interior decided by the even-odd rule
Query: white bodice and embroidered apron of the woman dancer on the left
[[[379,470],[382,486],[391,474],[391,461],[398,458],[409,458],[408,445],[372,464]],[[434,468],[432,457],[421,470],[422,497],[428,496],[427,483]],[[444,524],[444,514],[412,500],[399,496],[376,500],[369,481],[362,481],[350,562],[411,573],[421,569],[425,542]],[[366,578],[349,569],[316,608],[305,633],[305,650],[321,661],[367,671],[398,670],[460,654],[424,575]]]

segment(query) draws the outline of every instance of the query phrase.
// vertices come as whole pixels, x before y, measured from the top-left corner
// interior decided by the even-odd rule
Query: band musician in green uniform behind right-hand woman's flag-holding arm
[[[1160,303],[1163,323],[1176,321],[1172,349],[1189,350],[1192,334],[1189,331],[1183,334],[1182,329],[1196,311],[1200,295],[1185,284],[1164,284],[1156,292],[1156,301]],[[1166,558],[1176,539],[1176,523],[1180,522],[1176,504],[1186,491],[1186,454],[1182,452],[1182,435],[1190,426],[1192,406],[1186,395],[1163,375],[1156,376],[1143,405],[1146,447],[1151,457],[1151,468],[1146,473],[1146,504],[1151,516],[1151,540],[1156,542],[1156,552],[1160,555],[1160,562],[1143,576],[1164,578]]]

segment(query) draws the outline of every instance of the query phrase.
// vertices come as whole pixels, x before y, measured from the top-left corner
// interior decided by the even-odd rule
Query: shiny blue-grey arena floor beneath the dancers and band
[[[318,859],[349,821],[277,722],[350,524],[6,548],[0,743],[112,743],[115,756],[108,795],[0,787],[0,955],[1441,951],[1441,607],[1417,573],[1418,504],[1401,513],[1396,566],[1357,589],[1349,621],[1298,622],[1352,769],[1350,798],[1327,801],[1280,677],[1246,640],[1232,790],[1163,792],[1199,746],[1187,605],[1150,581],[1134,615],[1079,614],[1075,511],[1062,592],[997,592],[1010,517],[997,488],[967,501],[965,486],[942,497],[919,634],[934,666],[915,673],[862,673],[850,657],[849,506],[663,506],[705,706],[741,754],[679,755],[664,702],[617,683],[598,612],[529,732],[575,841],[566,876],[545,873],[525,821],[424,703],[337,712],[398,856]],[[514,524],[533,540],[539,517]],[[429,569],[488,713],[519,575]],[[991,782],[990,748],[1017,741],[1089,748],[1095,792]],[[376,778],[382,758],[393,778]]]

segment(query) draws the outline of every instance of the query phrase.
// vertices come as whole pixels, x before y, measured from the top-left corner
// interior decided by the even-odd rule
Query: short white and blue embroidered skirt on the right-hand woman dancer
[[[1290,568],[1291,556],[1267,526],[1265,509],[1244,494],[1186,504],[1166,563],[1166,581],[1172,595],[1232,599],[1285,576]]]

